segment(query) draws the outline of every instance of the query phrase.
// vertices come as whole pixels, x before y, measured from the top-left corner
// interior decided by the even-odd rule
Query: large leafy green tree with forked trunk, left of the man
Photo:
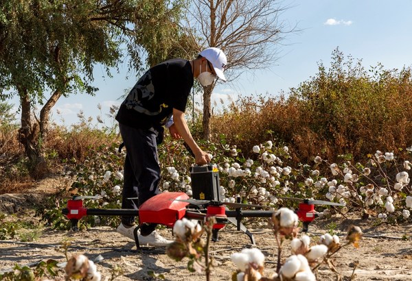
[[[127,57],[130,69],[142,71],[190,51],[177,24],[182,7],[182,0],[2,1],[0,99],[19,96],[19,140],[34,175],[47,171],[42,143],[52,107],[61,96],[94,95],[95,64],[110,75]],[[38,117],[34,104],[42,106]]]

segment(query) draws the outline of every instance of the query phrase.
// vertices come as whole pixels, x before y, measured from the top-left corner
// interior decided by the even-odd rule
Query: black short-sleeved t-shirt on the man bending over
[[[116,120],[141,129],[163,125],[172,115],[173,108],[185,112],[193,81],[188,60],[166,60],[153,66],[130,90]]]

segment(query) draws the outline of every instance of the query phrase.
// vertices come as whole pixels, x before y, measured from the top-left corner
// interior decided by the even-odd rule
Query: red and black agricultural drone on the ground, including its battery
[[[192,178],[193,199],[186,193],[169,192],[160,193],[141,204],[139,209],[98,209],[85,208],[83,199],[94,198],[90,196],[73,197],[67,201],[67,208],[62,210],[67,219],[71,221],[72,228],[77,230],[78,221],[87,215],[98,216],[135,216],[139,217],[140,225],[143,223],[157,223],[173,228],[174,223],[183,218],[206,221],[208,217],[215,217],[216,224],[212,230],[212,240],[218,241],[218,231],[227,223],[233,223],[238,230],[242,230],[255,245],[253,234],[242,224],[245,217],[272,217],[273,210],[243,210],[243,208],[265,208],[260,205],[242,204],[240,197],[237,203],[220,201],[220,184],[218,168],[214,164],[194,166],[190,169]],[[299,209],[296,211],[299,220],[302,221],[303,231],[308,231],[308,225],[317,217],[314,205],[344,206],[329,201],[308,200],[290,197],[277,197],[281,199],[300,200]],[[229,208],[234,210],[229,210]],[[139,239],[135,228],[135,242],[139,249]]]

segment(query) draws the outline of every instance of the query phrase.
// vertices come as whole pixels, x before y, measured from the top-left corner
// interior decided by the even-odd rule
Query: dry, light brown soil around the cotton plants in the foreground
[[[0,195],[0,212],[19,212],[22,208],[41,203],[41,198],[53,193],[53,188],[34,188],[30,193]],[[27,194],[30,194],[28,196]],[[30,212],[27,212],[30,214]],[[27,215],[29,216],[29,215]],[[23,217],[20,219],[32,219]],[[364,232],[360,247],[343,247],[334,255],[333,261],[343,280],[412,280],[412,241],[411,225],[377,224],[375,219],[359,219],[357,215],[332,219],[316,219],[309,227],[312,243],[321,234],[333,230],[345,242],[349,225],[358,225]],[[336,225],[336,228],[332,228]],[[236,271],[230,255],[240,252],[245,247],[258,247],[266,256],[265,272],[274,272],[277,262],[277,245],[273,232],[266,223],[247,225],[253,233],[256,244],[251,245],[249,237],[236,230],[234,225],[227,225],[219,234],[219,241],[211,243],[210,252],[214,260],[211,280],[231,280]],[[170,229],[159,232],[172,239]],[[403,238],[403,239],[402,239]],[[405,239],[406,238],[406,239]],[[64,280],[65,254],[60,245],[63,241],[71,242],[68,256],[84,254],[95,260],[102,280],[112,280],[113,268],[122,269],[122,274],[115,280],[161,280],[149,275],[150,271],[162,274],[165,280],[206,280],[202,273],[187,270],[187,258],[176,262],[165,254],[165,247],[141,247],[136,249],[135,242],[118,234],[114,228],[98,227],[88,230],[56,231],[45,229],[38,239],[21,242],[19,239],[0,241],[0,272],[11,270],[14,265],[34,267],[41,260],[58,260],[62,267],[58,280]],[[290,255],[290,243],[285,241],[282,258]],[[356,267],[356,263],[358,265]],[[327,266],[317,270],[317,280],[336,280]]]

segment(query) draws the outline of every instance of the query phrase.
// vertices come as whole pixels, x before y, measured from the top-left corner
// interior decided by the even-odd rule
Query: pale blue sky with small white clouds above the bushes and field
[[[365,69],[378,62],[385,69],[412,66],[411,0],[284,0],[281,5],[289,8],[280,15],[280,21],[297,25],[301,31],[286,37],[279,59],[270,69],[246,72],[236,81],[219,84],[212,100],[265,93],[275,97],[282,90],[288,93],[289,88],[316,75],[318,62],[330,66],[336,47],[345,56],[363,60]],[[80,110],[94,121],[98,115],[104,118],[108,108],[121,103],[119,97],[137,80],[134,73],[127,73],[126,66],[112,78],[103,75],[104,71],[96,67],[95,86],[100,90],[95,97],[60,98],[54,108],[54,121],[61,123],[56,110],[61,112],[65,125],[78,123]],[[200,95],[195,97],[201,99]],[[98,109],[99,103],[102,110]]]

